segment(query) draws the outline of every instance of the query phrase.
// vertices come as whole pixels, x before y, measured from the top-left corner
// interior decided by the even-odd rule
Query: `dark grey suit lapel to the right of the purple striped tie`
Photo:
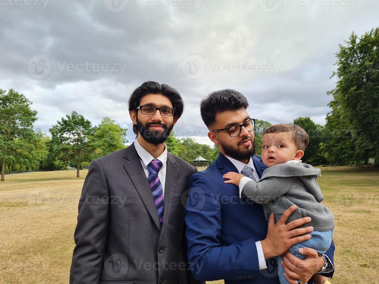
[[[168,226],[172,201],[174,200],[174,195],[179,178],[179,169],[175,166],[175,163],[175,158],[172,157],[172,154],[168,152],[166,162],[166,183],[164,185],[163,223],[160,239],[163,237],[164,232],[166,231],[166,227]]]

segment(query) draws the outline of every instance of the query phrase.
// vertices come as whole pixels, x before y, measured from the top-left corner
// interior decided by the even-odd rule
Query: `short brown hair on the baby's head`
[[[292,134],[293,142],[298,150],[303,150],[307,148],[309,144],[309,136],[299,125],[296,124],[275,124],[271,125],[269,128],[263,132],[263,135],[267,133],[278,133],[278,132],[290,132]]]

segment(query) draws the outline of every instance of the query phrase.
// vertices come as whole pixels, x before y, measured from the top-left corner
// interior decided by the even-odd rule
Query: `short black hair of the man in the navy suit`
[[[223,111],[234,111],[240,108],[247,108],[246,97],[232,89],[225,89],[210,93],[200,102],[201,117],[209,127],[216,120],[216,114]]]

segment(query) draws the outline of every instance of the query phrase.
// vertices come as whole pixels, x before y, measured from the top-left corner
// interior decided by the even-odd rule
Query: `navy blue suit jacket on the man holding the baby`
[[[259,156],[252,159],[262,176],[266,165]],[[194,276],[202,281],[225,279],[226,284],[279,284],[276,258],[266,260],[267,269],[259,269],[255,242],[265,239],[268,227],[263,207],[244,195],[240,198],[238,186],[224,183],[222,175],[227,172],[237,169],[219,153],[215,162],[192,175],[189,182],[185,222]],[[333,262],[334,243],[326,255]]]

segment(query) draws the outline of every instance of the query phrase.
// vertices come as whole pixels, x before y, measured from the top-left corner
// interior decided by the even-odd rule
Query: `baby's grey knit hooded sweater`
[[[321,204],[324,197],[316,181],[318,176],[321,176],[320,169],[308,164],[277,164],[267,168],[257,183],[248,181],[242,193],[255,203],[263,205],[267,220],[273,212],[277,222],[283,212],[295,204],[298,208],[286,224],[299,218],[311,217],[311,222],[298,228],[313,226],[315,231],[330,231],[335,226],[334,216]]]

